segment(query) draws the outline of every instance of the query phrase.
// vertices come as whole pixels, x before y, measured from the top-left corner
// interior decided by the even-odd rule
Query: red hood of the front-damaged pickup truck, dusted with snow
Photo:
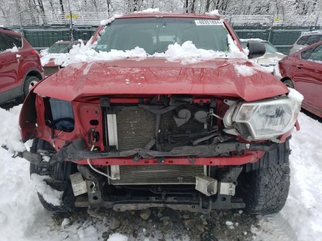
[[[116,94],[220,95],[253,101],[287,93],[288,89],[245,59],[182,64],[151,57],[71,64],[44,79],[34,92],[67,101]]]

